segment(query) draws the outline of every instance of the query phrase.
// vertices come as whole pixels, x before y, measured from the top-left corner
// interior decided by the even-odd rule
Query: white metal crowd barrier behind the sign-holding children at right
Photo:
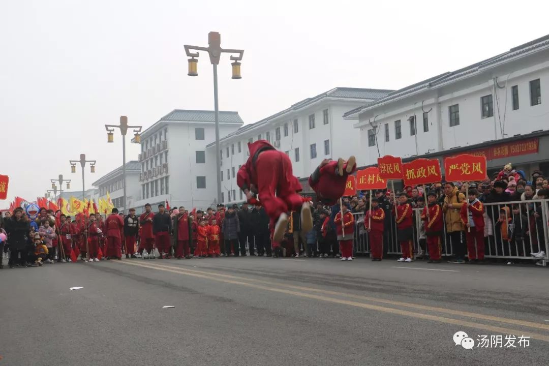
[[[549,200],[529,200],[529,201],[512,201],[505,203],[493,203],[484,205],[484,246],[486,258],[506,258],[517,260],[536,260],[541,261],[544,266],[549,262]],[[519,209],[518,215],[513,215],[512,207],[516,206]],[[508,221],[508,233],[502,235],[498,218],[500,218],[500,210],[503,207],[508,207],[508,210],[502,215]],[[414,252],[421,252],[422,246],[427,255],[427,245],[425,245],[424,224],[421,220],[421,211],[423,208],[413,209],[413,246]],[[539,214],[541,212],[541,215]],[[368,235],[364,227],[363,213],[354,213],[355,217],[355,240],[354,250],[356,253],[368,254],[369,243]],[[513,217],[515,216],[515,217]],[[518,225],[515,220],[521,218],[521,232],[515,232]],[[443,217],[444,219],[444,217]],[[511,221],[509,221],[511,219]],[[385,226],[389,220],[385,221]],[[526,226],[526,228],[524,228]],[[513,235],[514,232],[514,235]],[[462,244],[467,247],[465,231],[462,232]],[[384,253],[389,255],[400,255],[400,244],[396,236],[396,223],[394,216],[391,216],[390,227],[385,227],[383,235]],[[514,240],[510,240],[510,239]],[[420,243],[421,241],[421,243]],[[421,245],[423,244],[423,245]],[[444,235],[442,235],[442,255],[452,256],[454,254],[451,238],[446,233],[446,224],[444,224]],[[534,258],[531,253],[545,251],[545,257]],[[467,250],[466,250],[467,251]]]

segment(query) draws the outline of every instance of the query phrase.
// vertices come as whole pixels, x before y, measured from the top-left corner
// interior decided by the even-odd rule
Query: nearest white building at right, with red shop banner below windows
[[[358,120],[365,165],[384,155],[444,157],[451,149],[485,154],[489,168],[512,162],[531,171],[549,159],[541,132],[549,127],[547,91],[549,36],[392,92],[345,118]]]

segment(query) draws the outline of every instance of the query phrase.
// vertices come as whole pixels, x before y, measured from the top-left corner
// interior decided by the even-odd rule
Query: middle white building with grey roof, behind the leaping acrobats
[[[300,178],[309,177],[323,159],[330,157],[356,155],[358,164],[366,164],[367,160],[359,154],[359,136],[352,123],[343,119],[343,114],[385,97],[389,92],[385,89],[334,88],[229,133],[221,139],[221,151],[215,151],[215,142],[211,142],[209,153],[220,154],[222,158],[223,203],[243,200],[236,174],[248,159],[248,143],[259,139],[268,140],[288,154],[293,173]],[[304,192],[307,190],[304,185]]]

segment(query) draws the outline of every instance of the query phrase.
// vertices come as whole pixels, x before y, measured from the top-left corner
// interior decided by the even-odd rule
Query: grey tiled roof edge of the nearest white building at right
[[[448,83],[459,80],[463,77],[476,74],[480,71],[485,71],[488,67],[495,66],[496,64],[503,63],[507,60],[516,59],[522,57],[525,54],[534,53],[547,48],[549,48],[549,35],[537,38],[536,40],[530,41],[528,43],[524,43],[518,47],[511,48],[508,52],[496,55],[473,65],[463,67],[462,69],[445,72],[444,74],[440,74],[428,78],[427,80],[423,80],[413,85],[404,87],[402,89],[389,93],[385,97],[379,98],[372,103],[368,103],[360,106],[359,108],[348,111],[343,116],[348,117],[356,114],[357,112],[373,108],[374,106],[390,103],[393,100],[397,100],[401,97],[406,97],[408,95],[421,92],[425,89],[430,89],[441,85],[447,85]]]

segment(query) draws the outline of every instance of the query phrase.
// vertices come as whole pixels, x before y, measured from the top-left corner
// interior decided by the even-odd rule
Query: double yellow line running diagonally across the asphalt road
[[[367,303],[362,303],[362,302],[343,300],[343,299],[334,299],[333,297],[325,297],[325,296],[320,296],[320,295],[306,294],[304,292],[296,292],[296,291],[292,291],[292,290],[288,290],[288,289],[279,289],[279,288],[267,287],[267,286],[253,284],[253,283],[249,283],[249,282],[243,282],[243,281],[240,281],[240,280],[252,281],[252,282],[255,281],[255,282],[259,282],[259,283],[266,283],[270,286],[273,286],[273,285],[285,286],[287,288],[293,288],[293,289],[299,289],[299,290],[305,290],[305,291],[311,291],[311,292],[321,292],[321,293],[329,294],[329,295],[346,296],[346,297],[352,297],[352,298],[356,298],[356,299],[360,299],[360,300],[389,303],[391,305],[406,306],[406,307],[418,308],[418,309],[435,311],[435,312],[444,312],[444,313],[453,314],[453,315],[457,315],[457,316],[472,317],[472,318],[478,318],[478,319],[484,319],[484,320],[494,320],[495,322],[509,323],[509,324],[514,324],[514,325],[523,325],[523,326],[528,326],[530,328],[540,328],[540,329],[549,330],[549,325],[538,324],[538,323],[533,323],[533,322],[526,322],[524,320],[507,319],[507,318],[489,316],[489,315],[485,315],[485,314],[475,314],[475,313],[462,312],[462,311],[456,311],[456,310],[445,309],[445,308],[418,305],[418,304],[407,303],[407,302],[377,299],[377,298],[367,297],[367,296],[345,294],[343,292],[337,292],[337,291],[310,289],[310,288],[304,288],[302,286],[286,285],[286,284],[281,284],[281,283],[272,283],[270,281],[256,280],[256,279],[253,279],[253,278],[245,278],[245,277],[236,277],[236,276],[226,275],[226,274],[221,274],[221,273],[210,273],[210,272],[203,272],[203,271],[195,271],[195,270],[192,270],[192,269],[181,268],[181,267],[159,266],[159,265],[156,265],[156,264],[148,264],[148,263],[147,264],[145,264],[145,263],[132,263],[132,262],[128,262],[128,261],[115,262],[115,263],[128,264],[128,265],[131,265],[131,266],[138,266],[138,267],[144,267],[144,268],[149,268],[149,269],[156,269],[157,271],[165,271],[165,272],[171,272],[171,273],[177,273],[177,274],[184,274],[184,275],[189,275],[191,277],[210,279],[210,280],[219,281],[219,282],[223,282],[223,283],[229,283],[229,284],[243,285],[243,286],[247,286],[249,288],[262,289],[262,290],[267,290],[267,291],[272,291],[272,292],[280,292],[280,293],[283,293],[283,294],[294,295],[294,296],[299,296],[299,297],[305,297],[305,298],[308,298],[308,299],[315,299],[315,300],[326,301],[326,302],[340,303],[340,304],[343,304],[343,305],[349,305],[349,306],[361,307],[361,308],[366,308],[366,309],[372,309],[372,310],[386,312],[386,313],[400,314],[402,316],[408,316],[408,317],[413,317],[413,318],[434,320],[436,322],[441,322],[441,323],[446,323],[446,324],[455,324],[455,325],[461,325],[461,326],[468,326],[468,327],[474,328],[474,329],[489,330],[489,331],[499,332],[499,333],[502,333],[502,334],[513,334],[513,335],[516,335],[516,336],[529,335],[533,339],[549,342],[549,336],[544,335],[544,334],[529,333],[528,331],[524,331],[524,330],[516,330],[516,329],[502,328],[500,326],[494,326],[494,325],[488,325],[488,324],[473,323],[473,322],[468,322],[467,320],[445,318],[445,317],[434,316],[434,315],[430,315],[430,314],[416,313],[416,312],[411,312],[411,311],[407,311],[407,310],[391,308],[391,307],[384,307],[384,306],[378,306],[378,305],[372,305],[372,304],[367,304]],[[215,277],[215,276],[217,276],[217,277]]]

